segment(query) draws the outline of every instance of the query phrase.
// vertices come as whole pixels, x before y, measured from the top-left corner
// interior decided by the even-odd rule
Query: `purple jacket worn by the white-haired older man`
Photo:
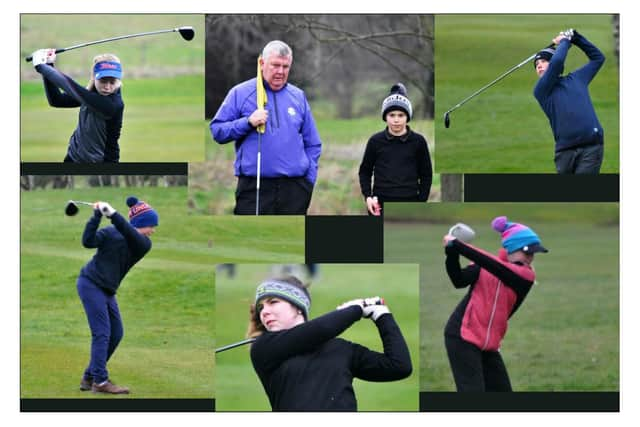
[[[265,178],[305,177],[312,185],[318,176],[322,141],[304,92],[287,83],[277,92],[265,82],[269,119],[261,141],[260,175]],[[236,176],[257,175],[258,132],[249,123],[257,109],[256,79],[233,87],[209,125],[213,139],[235,141]]]

